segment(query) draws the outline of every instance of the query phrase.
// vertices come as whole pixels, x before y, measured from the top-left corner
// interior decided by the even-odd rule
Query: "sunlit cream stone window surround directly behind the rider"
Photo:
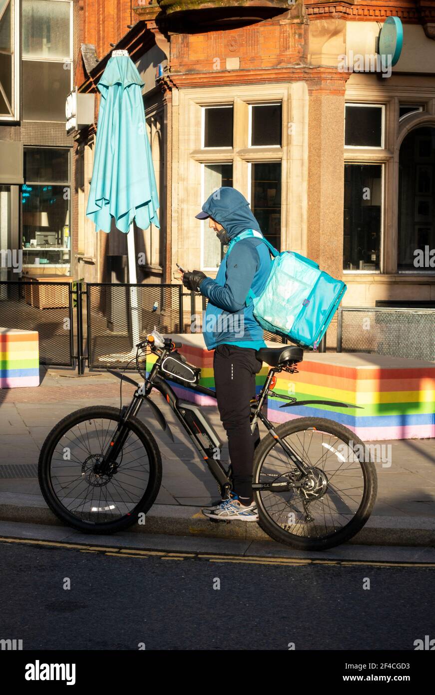
[[[282,102],[282,147],[248,147],[248,106],[271,101]],[[219,104],[234,106],[233,147],[202,149],[203,106]],[[173,171],[175,175],[172,179],[172,210],[178,211],[177,215],[173,215],[172,224],[173,266],[177,261],[186,268],[198,268],[199,265],[201,222],[195,220],[194,216],[201,210],[203,204],[201,169],[204,163],[232,162],[234,187],[246,195],[250,162],[281,161],[282,249],[292,248],[302,254],[306,253],[307,104],[307,85],[302,82],[273,85],[225,85],[177,91],[177,97],[173,99],[173,153],[178,160],[178,176]],[[293,124],[292,129],[287,124]],[[293,203],[290,204],[292,198]],[[176,255],[178,255],[177,258],[175,258]]]

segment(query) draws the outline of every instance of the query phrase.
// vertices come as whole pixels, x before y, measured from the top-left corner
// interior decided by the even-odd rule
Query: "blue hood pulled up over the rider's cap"
[[[245,229],[261,231],[248,201],[235,188],[222,186],[215,190],[203,204],[203,211],[222,224],[230,239]]]

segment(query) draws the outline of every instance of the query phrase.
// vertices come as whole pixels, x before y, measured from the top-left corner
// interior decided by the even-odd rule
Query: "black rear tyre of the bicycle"
[[[327,420],[326,418],[296,418],[287,423],[282,423],[282,425],[278,425],[274,430],[278,436],[285,437],[290,434],[295,434],[296,432],[309,430],[309,428],[332,434],[333,436],[339,437],[342,441],[353,441],[355,445],[362,445],[364,448],[364,442],[361,441],[354,432],[348,430],[344,425],[335,423],[333,420]],[[275,444],[276,441],[271,434],[267,434],[259,444],[255,452],[253,482],[259,482],[262,464]],[[278,543],[285,543],[287,546],[297,548],[298,550],[327,550],[328,548],[339,546],[341,543],[346,543],[346,541],[354,537],[367,522],[373,510],[377,495],[377,475],[373,461],[359,460],[359,464],[363,471],[365,483],[363,498],[355,516],[348,524],[343,526],[341,530],[320,538],[300,537],[296,534],[291,534],[287,530],[280,528],[278,523],[271,520],[271,517],[262,504],[259,491],[254,491],[260,528],[273,540],[278,541]]]

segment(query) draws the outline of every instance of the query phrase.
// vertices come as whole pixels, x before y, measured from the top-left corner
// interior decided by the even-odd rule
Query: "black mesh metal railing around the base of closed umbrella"
[[[205,297],[183,294],[181,284],[0,281],[0,327],[37,331],[41,364],[76,364],[83,374],[86,362],[89,368],[126,366],[135,355],[133,343],[154,326],[162,333],[189,332],[196,300],[205,311]],[[267,331],[264,339],[288,342]]]

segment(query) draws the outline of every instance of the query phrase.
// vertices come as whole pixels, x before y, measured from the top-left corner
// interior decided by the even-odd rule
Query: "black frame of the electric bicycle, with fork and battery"
[[[185,431],[189,435],[189,438],[193,441],[198,453],[201,455],[203,460],[207,462],[207,466],[210,469],[214,479],[219,483],[222,493],[228,493],[232,487],[232,484],[228,477],[227,471],[225,471],[225,468],[223,468],[220,461],[221,442],[219,441],[219,436],[216,434],[216,432],[214,432],[211,423],[207,420],[205,415],[203,413],[201,413],[201,416],[198,415],[201,409],[191,402],[178,398],[176,393],[171,388],[171,385],[167,382],[167,379],[159,374],[160,363],[164,357],[171,352],[171,350],[168,348],[157,349],[156,347],[152,347],[151,350],[159,357],[151,368],[151,372],[149,373],[145,384],[142,386],[133,381],[133,379],[123,377],[123,375],[120,375],[115,370],[111,370],[113,374],[117,375],[121,379],[126,379],[126,381],[135,384],[137,389],[133,395],[130,405],[127,407],[124,406],[121,410],[122,417],[117,427],[117,431],[112,437],[112,440],[108,445],[108,450],[103,455],[103,459],[101,459],[99,463],[101,473],[107,472],[112,466],[116,467],[117,457],[119,456],[121,449],[123,448],[123,445],[128,437],[128,420],[137,416],[144,401],[151,406],[153,414],[157,418],[160,426],[163,429],[166,429],[169,436],[171,436],[173,439],[169,425],[167,425],[162,412],[158,406],[149,399],[152,389],[157,389],[157,391],[159,391],[163,398],[168,402],[169,407],[171,407],[177,419],[180,421]],[[308,469],[305,467],[304,462],[300,459],[296,451],[291,448],[291,445],[276,434],[272,423],[270,420],[268,420],[268,418],[266,418],[263,412],[267,396],[274,395],[273,391],[269,389],[271,380],[273,379],[275,373],[280,372],[281,370],[282,367],[269,369],[266,381],[259,392],[258,398],[251,400],[251,431],[254,432],[255,426],[257,425],[258,420],[260,420],[268,430],[268,434],[271,434],[273,439],[280,443],[284,449],[284,452],[287,454],[294,466],[298,468],[301,475],[298,481],[293,480],[292,476],[289,478],[288,482],[272,481],[268,483],[254,483],[253,489],[259,491],[272,491],[273,489],[279,489],[280,492],[289,491],[302,486],[305,477],[308,475]],[[196,391],[196,393],[208,395],[211,398],[216,399],[216,392],[212,391],[212,389],[207,389],[206,386],[201,386],[200,384],[191,384],[189,388]],[[287,396],[287,400],[291,401],[290,405],[297,404],[296,398]],[[194,416],[196,415],[196,418],[192,416],[192,412],[194,413]]]

